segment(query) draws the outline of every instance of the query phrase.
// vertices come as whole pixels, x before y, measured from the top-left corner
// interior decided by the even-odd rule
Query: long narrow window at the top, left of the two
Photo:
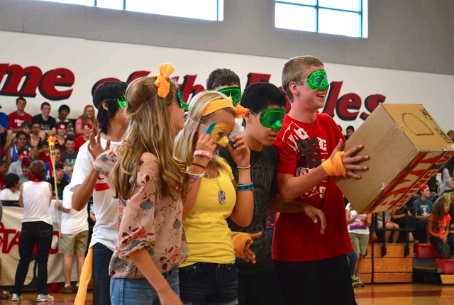
[[[155,13],[158,15],[223,21],[223,0],[40,0]]]

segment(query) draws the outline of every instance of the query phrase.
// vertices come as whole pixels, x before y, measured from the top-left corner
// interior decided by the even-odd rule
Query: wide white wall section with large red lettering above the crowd
[[[17,96],[25,96],[28,113],[40,113],[40,104],[49,101],[52,116],[57,116],[58,106],[67,104],[72,109],[70,118],[77,118],[85,105],[92,104],[92,92],[101,82],[129,83],[156,73],[162,62],[175,66],[172,77],[187,101],[205,89],[209,73],[218,68],[236,72],[243,89],[255,82],[271,82],[280,87],[280,71],[287,61],[4,31],[0,31],[0,39],[10,42],[0,50],[1,111],[15,111]],[[344,129],[360,126],[383,102],[423,104],[445,131],[454,128],[450,99],[454,95],[453,75],[331,63],[325,67],[331,86],[321,111]]]

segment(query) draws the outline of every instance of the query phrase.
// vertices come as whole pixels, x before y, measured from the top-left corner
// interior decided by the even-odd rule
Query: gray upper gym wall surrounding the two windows
[[[0,0],[0,30],[454,74],[454,0],[369,0],[367,39],[275,28],[274,3],[225,0],[224,21],[213,22]]]

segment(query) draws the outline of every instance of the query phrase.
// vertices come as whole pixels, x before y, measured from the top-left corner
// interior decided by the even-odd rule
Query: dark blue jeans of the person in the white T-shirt
[[[93,246],[93,305],[110,305],[109,263],[114,253],[102,243]]]

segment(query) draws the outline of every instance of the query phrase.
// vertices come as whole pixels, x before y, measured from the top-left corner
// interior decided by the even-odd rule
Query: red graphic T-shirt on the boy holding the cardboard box
[[[277,172],[300,176],[327,160],[339,139],[344,139],[337,124],[326,113],[317,113],[314,123],[284,117],[274,145],[279,153]],[[272,258],[285,262],[324,260],[353,251],[345,219],[343,194],[328,178],[301,196],[299,201],[321,209],[326,229],[314,224],[306,214],[280,213],[275,223]]]

